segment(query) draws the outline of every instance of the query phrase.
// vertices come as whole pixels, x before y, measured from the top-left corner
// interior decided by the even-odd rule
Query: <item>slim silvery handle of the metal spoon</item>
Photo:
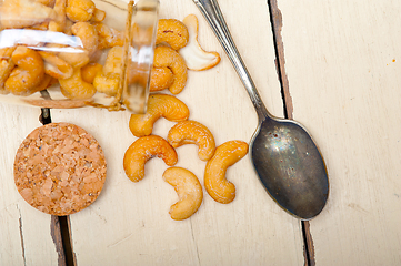
[[[231,33],[229,31],[229,28],[227,27],[223,14],[221,13],[218,1],[193,0],[193,2],[198,6],[199,10],[203,14],[209,25],[212,28],[215,37],[223,47],[227,55],[229,57],[238,75],[240,76],[242,84],[247,89],[253,106],[257,110],[259,120],[264,120],[265,117],[271,116],[258,93],[257,86],[254,85],[245,64],[242,61],[242,58],[235,47],[234,41],[232,40]]]

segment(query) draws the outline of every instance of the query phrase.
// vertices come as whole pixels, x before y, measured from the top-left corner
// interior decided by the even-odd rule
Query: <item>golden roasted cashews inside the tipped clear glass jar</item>
[[[111,48],[103,43],[114,37],[98,30],[107,28],[102,23],[106,12],[91,0],[3,0],[0,12],[1,30],[34,30],[36,35],[43,37],[39,43],[24,40],[0,49],[1,93],[26,96],[54,83],[67,99],[87,100],[97,92],[82,72],[99,59],[102,49]],[[46,40],[52,32],[72,37],[69,40],[79,40],[81,47]],[[122,34],[117,35],[122,40]]]

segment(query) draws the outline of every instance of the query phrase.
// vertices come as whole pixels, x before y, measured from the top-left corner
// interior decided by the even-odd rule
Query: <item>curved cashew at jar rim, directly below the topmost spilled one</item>
[[[170,85],[169,91],[172,94],[180,93],[187,83],[187,64],[182,57],[169,47],[157,47],[154,49],[154,68],[169,68],[174,74],[174,82]]]

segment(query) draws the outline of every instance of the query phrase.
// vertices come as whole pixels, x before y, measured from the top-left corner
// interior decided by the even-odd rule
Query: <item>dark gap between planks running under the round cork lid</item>
[[[39,116],[40,123],[43,125],[51,123],[50,109],[41,109]],[[56,250],[59,255],[59,266],[73,266],[74,257],[70,241],[70,228],[68,216],[51,216],[50,223],[51,237],[54,242]]]

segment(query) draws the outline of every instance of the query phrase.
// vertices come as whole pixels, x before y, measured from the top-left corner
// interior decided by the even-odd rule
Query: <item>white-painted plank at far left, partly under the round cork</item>
[[[39,122],[40,109],[0,104],[0,265],[57,265],[51,216],[18,193],[13,163],[18,147]]]

